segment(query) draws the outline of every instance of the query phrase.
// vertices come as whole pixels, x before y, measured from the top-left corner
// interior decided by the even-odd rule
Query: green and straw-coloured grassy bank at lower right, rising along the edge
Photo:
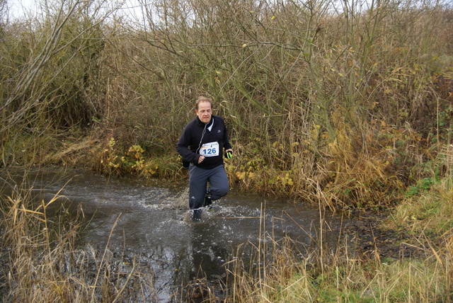
[[[429,192],[406,198],[381,223],[408,231],[403,241],[420,251],[417,258],[380,256],[379,238],[366,254],[339,239],[334,253],[320,245],[302,253],[302,260],[288,243],[275,243],[273,258],[255,272],[245,271],[241,258],[232,261],[234,302],[452,302],[451,182],[445,178]],[[263,256],[256,251],[255,261]]]

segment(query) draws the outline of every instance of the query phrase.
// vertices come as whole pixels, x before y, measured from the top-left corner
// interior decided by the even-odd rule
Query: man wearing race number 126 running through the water
[[[201,207],[210,210],[213,200],[228,193],[223,150],[231,158],[233,149],[224,119],[212,115],[212,98],[199,97],[195,102],[197,117],[185,125],[176,151],[189,162],[189,207],[191,219],[201,220]],[[207,188],[207,182],[210,188]]]

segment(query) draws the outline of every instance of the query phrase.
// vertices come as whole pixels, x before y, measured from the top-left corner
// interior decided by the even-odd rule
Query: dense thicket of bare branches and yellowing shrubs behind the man
[[[99,171],[174,176],[174,144],[209,95],[231,130],[230,180],[249,188],[381,206],[449,169],[433,161],[452,135],[448,2],[106,4],[3,17],[4,166],[88,148]],[[84,148],[62,142],[81,131]]]

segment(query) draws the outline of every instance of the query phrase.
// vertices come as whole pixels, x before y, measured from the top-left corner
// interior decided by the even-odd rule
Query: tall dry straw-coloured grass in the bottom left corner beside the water
[[[12,184],[12,182],[11,182]],[[30,189],[16,185],[1,197],[1,295],[8,302],[154,302],[151,277],[139,263],[78,243],[79,215],[55,204],[35,202]],[[52,211],[49,211],[52,209]],[[113,226],[113,229],[115,226]]]

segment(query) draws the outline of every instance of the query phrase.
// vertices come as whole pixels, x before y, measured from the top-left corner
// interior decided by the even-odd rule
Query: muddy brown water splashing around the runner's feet
[[[40,171],[28,177],[29,186],[46,202],[58,192],[64,196],[53,207],[83,210],[89,222],[85,244],[140,256],[142,266],[154,274],[159,302],[173,301],[178,287],[195,278],[224,277],[225,263],[238,251],[247,256],[252,246],[289,237],[303,258],[304,247],[317,243],[319,234],[328,246],[336,240],[334,232],[321,233],[320,222],[323,217],[323,229],[328,229],[337,217],[284,198],[231,188],[214,201],[212,212],[203,212],[202,222],[190,222],[185,181],[106,178],[86,171]]]

